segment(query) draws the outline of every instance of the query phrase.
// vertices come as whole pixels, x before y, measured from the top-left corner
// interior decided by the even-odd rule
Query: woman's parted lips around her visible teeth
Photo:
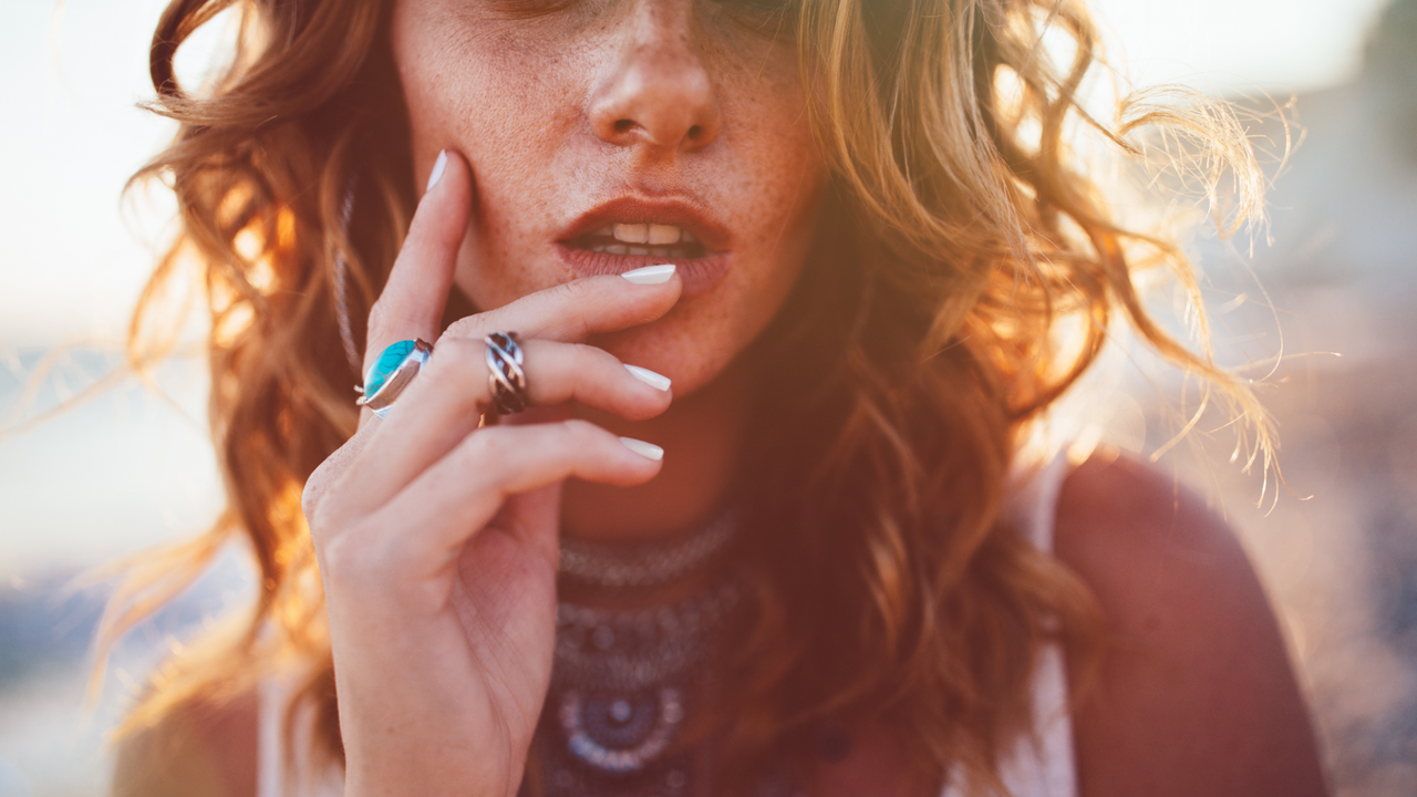
[[[707,252],[699,258],[656,258],[653,255],[615,255],[572,247],[575,238],[608,224],[670,224],[693,233]],[[577,277],[623,274],[646,265],[673,264],[684,284],[684,295],[704,294],[728,272],[733,235],[727,225],[691,203],[676,199],[621,197],[599,204],[577,218],[555,241],[555,252]]]

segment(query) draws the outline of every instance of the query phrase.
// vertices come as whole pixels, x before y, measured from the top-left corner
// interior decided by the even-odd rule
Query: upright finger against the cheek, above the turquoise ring
[[[470,210],[468,165],[458,153],[444,150],[432,165],[428,190],[418,203],[388,282],[370,309],[366,373],[391,343],[438,339]]]

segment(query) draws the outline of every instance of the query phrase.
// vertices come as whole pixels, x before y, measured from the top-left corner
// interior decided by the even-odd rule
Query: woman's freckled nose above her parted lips
[[[618,48],[591,92],[595,135],[616,146],[696,152],[718,138],[713,79],[694,37],[694,0],[629,0]]]

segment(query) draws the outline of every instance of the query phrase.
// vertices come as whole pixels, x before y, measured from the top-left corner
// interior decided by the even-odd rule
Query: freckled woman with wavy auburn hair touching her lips
[[[1080,6],[254,0],[186,94],[222,6],[153,40],[133,338],[196,252],[232,509],[174,572],[262,580],[119,793],[1323,793],[1223,523],[1017,454],[1118,313],[1258,417],[1071,170]],[[1134,122],[1251,167],[1204,111]]]

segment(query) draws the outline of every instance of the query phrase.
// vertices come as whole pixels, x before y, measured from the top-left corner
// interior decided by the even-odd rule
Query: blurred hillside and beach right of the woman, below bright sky
[[[1377,17],[1353,79],[1294,108],[1304,139],[1270,194],[1274,244],[1197,247],[1221,336],[1272,356],[1282,330],[1261,396],[1285,484],[1257,506],[1223,433],[1203,458],[1162,462],[1223,506],[1255,560],[1335,793],[1417,794],[1417,1]],[[1151,451],[1166,416],[1142,406]]]

